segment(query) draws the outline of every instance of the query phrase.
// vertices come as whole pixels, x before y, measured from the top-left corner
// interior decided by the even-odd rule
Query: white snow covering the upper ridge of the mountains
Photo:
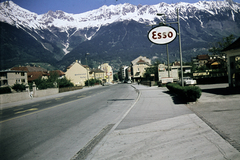
[[[52,32],[50,28],[56,27],[59,28],[61,32],[65,32],[68,38],[70,38],[75,32],[81,29],[97,28],[97,32],[102,26],[125,20],[155,24],[156,19],[163,21],[164,18],[163,16],[157,17],[157,13],[164,13],[167,21],[176,21],[177,8],[179,9],[180,18],[182,20],[186,21],[188,18],[195,18],[200,22],[202,27],[204,27],[202,15],[198,14],[200,11],[204,11],[208,15],[217,15],[221,14],[223,11],[230,11],[228,13],[231,15],[228,15],[228,17],[233,21],[235,21],[235,15],[240,13],[240,4],[235,3],[232,0],[199,1],[197,3],[180,2],[176,4],[159,3],[156,5],[138,6],[124,3],[110,6],[104,5],[99,9],[81,14],[70,14],[58,10],[55,12],[49,11],[41,15],[21,8],[12,1],[5,1],[0,3],[0,21],[18,28],[35,30],[36,33],[38,33],[38,30],[42,29],[47,29]],[[68,30],[71,28],[76,30],[70,35]],[[38,35],[41,36],[40,34]],[[90,37],[85,35],[88,40],[91,40],[93,36],[94,34]],[[36,39],[36,37],[34,38]],[[44,39],[44,37],[42,37],[42,39]],[[44,47],[44,44],[42,45]],[[69,52],[67,50],[69,47],[68,40],[63,43],[63,46],[65,47],[63,51],[67,54]]]

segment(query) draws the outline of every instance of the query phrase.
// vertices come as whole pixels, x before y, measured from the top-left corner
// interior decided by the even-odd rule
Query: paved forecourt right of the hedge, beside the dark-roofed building
[[[198,86],[202,96],[187,106],[240,151],[240,93],[227,83]]]

